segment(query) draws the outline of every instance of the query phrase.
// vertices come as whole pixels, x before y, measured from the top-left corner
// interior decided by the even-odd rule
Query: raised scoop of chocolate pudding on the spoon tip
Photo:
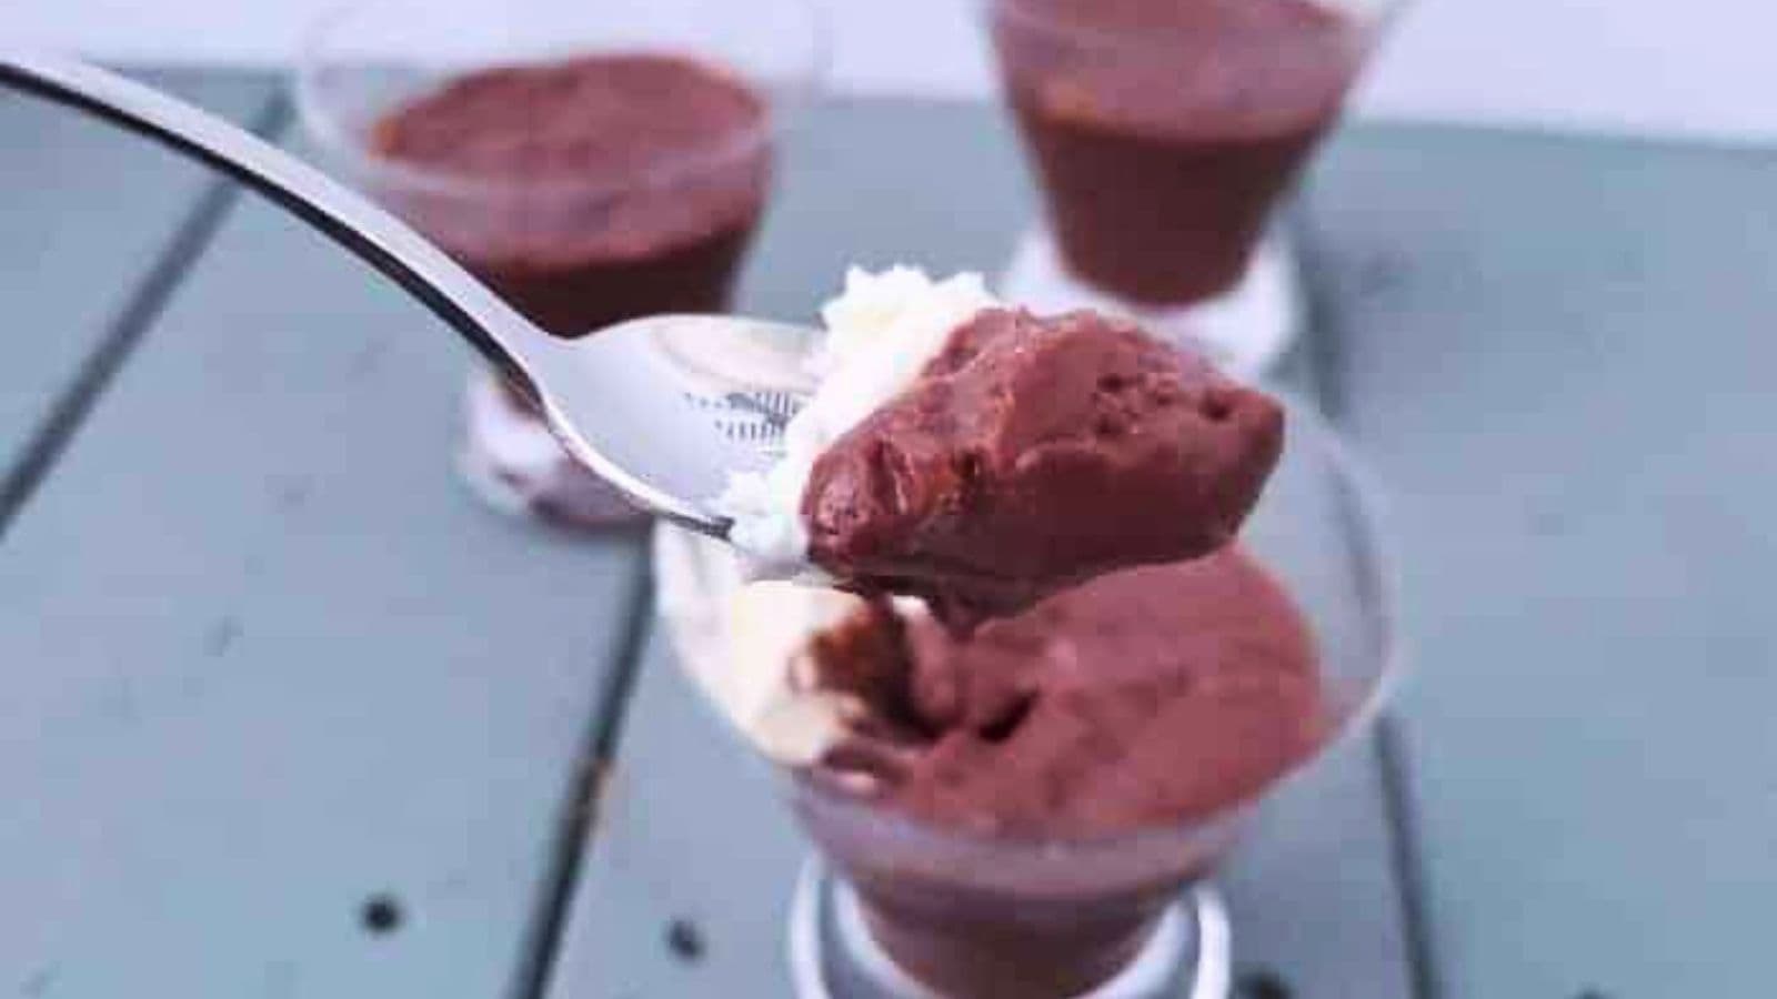
[[[810,558],[949,626],[1093,576],[1224,546],[1283,446],[1283,411],[1095,313],[988,309],[814,464]]]

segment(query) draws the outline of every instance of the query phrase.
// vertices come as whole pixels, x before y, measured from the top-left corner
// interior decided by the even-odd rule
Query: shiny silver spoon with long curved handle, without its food
[[[810,331],[734,316],[650,316],[562,340],[519,315],[425,236],[275,146],[96,66],[0,46],[0,87],[84,110],[201,160],[331,236],[432,309],[537,405],[574,460],[659,517],[727,540],[711,508],[734,471],[769,464],[798,391],[698,372],[730,345],[755,373]],[[746,364],[743,364],[745,368]],[[732,372],[729,372],[732,375]]]

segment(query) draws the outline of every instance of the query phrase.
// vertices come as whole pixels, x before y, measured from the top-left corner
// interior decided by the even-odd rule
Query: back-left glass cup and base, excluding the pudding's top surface
[[[606,158],[567,178],[560,171],[471,176],[382,148],[391,117],[444,85],[601,55],[689,60],[739,84],[762,114],[711,130],[707,140],[675,137],[668,149]],[[814,96],[825,57],[812,0],[640,7],[512,0],[450,9],[370,0],[315,32],[295,92],[331,167],[528,318],[572,338],[641,315],[727,311],[766,208],[777,139]],[[524,114],[547,117],[531,107],[499,108],[498,117]],[[572,462],[487,368],[469,377],[458,464],[474,492],[505,512],[567,526],[645,517]]]

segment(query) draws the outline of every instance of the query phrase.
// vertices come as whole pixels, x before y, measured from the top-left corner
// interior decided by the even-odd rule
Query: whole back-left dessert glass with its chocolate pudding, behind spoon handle
[[[315,32],[297,107],[329,165],[572,338],[729,308],[823,68],[814,0],[371,0]],[[487,368],[460,468],[501,510],[645,517]]]

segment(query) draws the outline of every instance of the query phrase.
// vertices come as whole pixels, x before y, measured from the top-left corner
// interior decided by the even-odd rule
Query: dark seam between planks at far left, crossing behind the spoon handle
[[[249,128],[261,137],[272,137],[288,121],[288,101],[275,96],[249,121]],[[130,293],[105,336],[80,364],[75,379],[37,423],[23,453],[0,478],[0,540],[5,539],[30,498],[50,478],[52,469],[68,453],[87,416],[147,336],[147,331],[160,320],[197,260],[210,249],[238,197],[240,187],[226,178],[210,181],[197,204],[185,215],[156,256],[147,276]]]

